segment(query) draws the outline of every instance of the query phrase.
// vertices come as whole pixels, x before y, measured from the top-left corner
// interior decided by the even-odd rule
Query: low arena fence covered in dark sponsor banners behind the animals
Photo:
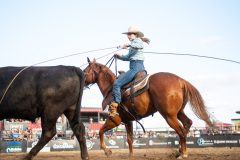
[[[0,152],[28,152],[36,145],[37,141],[1,141]],[[126,137],[105,138],[108,148],[128,148]],[[135,138],[134,148],[170,148],[178,147],[179,139],[176,137],[167,138]],[[188,137],[187,145],[191,147],[240,147],[240,134],[219,134],[201,135],[200,137]],[[98,150],[99,139],[87,139],[88,150]],[[74,151],[79,150],[76,139],[51,140],[41,151]]]

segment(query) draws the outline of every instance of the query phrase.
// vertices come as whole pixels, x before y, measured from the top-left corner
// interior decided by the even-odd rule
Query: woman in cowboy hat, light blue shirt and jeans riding
[[[129,83],[134,76],[142,70],[145,70],[144,67],[144,53],[143,53],[143,42],[149,44],[150,40],[144,37],[144,34],[134,26],[128,28],[126,34],[130,43],[123,44],[120,46],[122,49],[129,48],[129,52],[126,55],[115,54],[114,56],[123,61],[130,61],[129,70],[121,74],[118,79],[114,81],[113,92],[112,92],[112,102],[109,107],[109,115],[114,117],[117,115],[117,107],[121,103],[121,87]]]

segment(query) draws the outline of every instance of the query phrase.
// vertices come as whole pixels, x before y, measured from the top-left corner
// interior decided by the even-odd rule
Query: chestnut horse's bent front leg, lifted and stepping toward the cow
[[[100,137],[100,149],[102,149],[106,156],[110,156],[112,154],[112,151],[107,148],[105,142],[104,142],[104,133],[108,130],[111,130],[122,122],[122,119],[116,115],[115,117],[109,117],[102,128],[99,131],[99,137]]]

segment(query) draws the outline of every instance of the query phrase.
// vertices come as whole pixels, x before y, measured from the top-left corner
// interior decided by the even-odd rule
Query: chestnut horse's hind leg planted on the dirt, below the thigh
[[[183,157],[187,157],[188,153],[187,153],[187,145],[186,145],[186,131],[185,128],[182,126],[182,124],[179,123],[178,119],[176,116],[169,116],[169,117],[165,117],[167,123],[169,124],[170,127],[172,127],[178,134],[179,136],[179,144],[180,144],[180,148],[179,148],[179,152],[181,155],[177,155],[179,158],[181,158],[180,156]]]

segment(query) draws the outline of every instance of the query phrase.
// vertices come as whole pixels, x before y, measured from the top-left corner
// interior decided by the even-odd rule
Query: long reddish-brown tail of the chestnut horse
[[[204,100],[199,91],[187,81],[184,81],[184,84],[185,94],[188,96],[188,100],[195,115],[199,119],[205,121],[209,126],[213,126],[207,107],[205,106]]]

